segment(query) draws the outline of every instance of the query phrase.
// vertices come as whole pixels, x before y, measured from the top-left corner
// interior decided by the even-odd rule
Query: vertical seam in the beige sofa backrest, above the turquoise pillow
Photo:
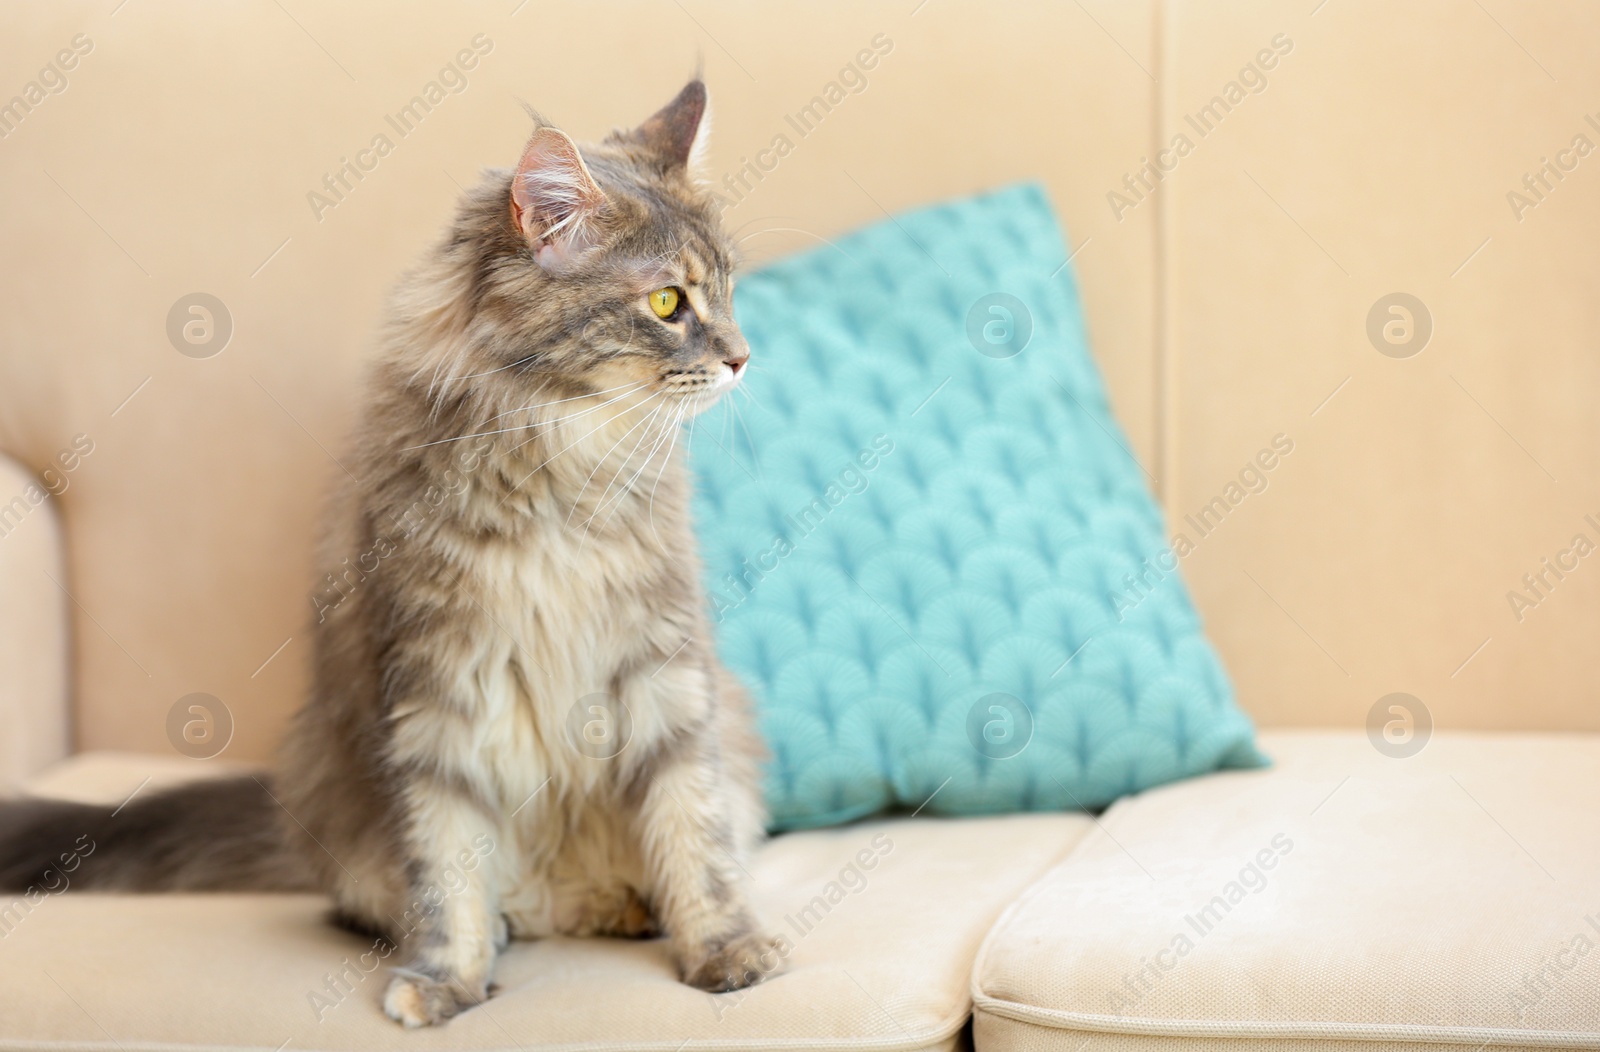
[[[1168,141],[1168,112],[1171,109],[1168,98],[1168,85],[1173,83],[1171,66],[1174,62],[1171,24],[1173,13],[1168,10],[1171,0],[1154,0],[1152,10],[1152,45],[1154,51],[1152,66],[1155,67],[1155,90],[1150,104],[1150,133],[1154,142],[1150,144],[1150,155],[1155,157],[1163,144]],[[1162,193],[1166,189],[1166,193]],[[1154,374],[1155,374],[1155,486],[1157,500],[1160,500],[1163,510],[1166,512],[1166,520],[1176,521],[1178,512],[1178,368],[1176,368],[1176,341],[1171,331],[1173,302],[1171,302],[1171,229],[1173,229],[1173,201],[1171,187],[1157,187],[1150,195],[1155,200],[1155,230],[1154,230],[1154,280],[1152,280],[1152,342],[1155,350]]]

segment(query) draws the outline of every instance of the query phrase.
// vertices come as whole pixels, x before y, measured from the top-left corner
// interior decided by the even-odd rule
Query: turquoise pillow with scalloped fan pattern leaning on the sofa
[[[774,830],[1102,807],[1264,763],[1106,403],[1037,185],[744,278],[693,432],[723,660]]]

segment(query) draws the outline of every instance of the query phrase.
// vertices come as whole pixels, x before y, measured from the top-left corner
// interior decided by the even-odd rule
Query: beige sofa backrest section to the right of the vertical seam
[[[1245,703],[1354,723],[1403,691],[1443,726],[1600,729],[1600,558],[1520,622],[1507,601],[1574,534],[1600,544],[1600,11],[1230,0],[1168,19],[1163,125],[1195,141],[1163,184],[1170,512],[1294,441],[1186,561]],[[1267,88],[1197,136],[1182,115],[1275,34],[1294,46]],[[1597,153],[1518,221],[1507,193],[1578,134]],[[1389,293],[1434,318],[1411,358],[1368,341]]]

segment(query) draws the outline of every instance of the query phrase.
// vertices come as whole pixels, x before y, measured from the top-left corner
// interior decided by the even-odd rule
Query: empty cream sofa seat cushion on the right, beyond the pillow
[[[1118,803],[1006,910],[979,1052],[1600,1047],[1600,735],[1261,745]]]

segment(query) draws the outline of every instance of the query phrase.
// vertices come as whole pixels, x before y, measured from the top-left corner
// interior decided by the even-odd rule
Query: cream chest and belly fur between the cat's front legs
[[[597,887],[640,883],[619,804],[699,697],[674,691],[683,670],[662,670],[690,630],[664,600],[683,576],[654,532],[632,512],[605,532],[571,518],[542,515],[458,555],[472,566],[462,588],[482,643],[461,670],[482,705],[477,766],[514,847],[504,911],[523,937],[574,930]]]

